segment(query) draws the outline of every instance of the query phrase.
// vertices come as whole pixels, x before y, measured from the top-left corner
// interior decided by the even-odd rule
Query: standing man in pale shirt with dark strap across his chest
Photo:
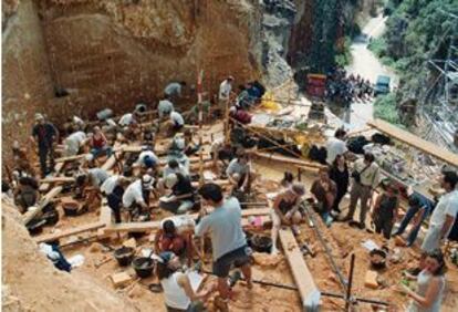
[[[353,185],[350,191],[348,214],[342,221],[353,221],[353,215],[356,210],[356,204],[361,201],[360,228],[365,228],[367,204],[372,198],[374,189],[378,186],[381,179],[379,167],[375,163],[375,157],[371,153],[364,154],[364,158],[357,159],[353,165]]]

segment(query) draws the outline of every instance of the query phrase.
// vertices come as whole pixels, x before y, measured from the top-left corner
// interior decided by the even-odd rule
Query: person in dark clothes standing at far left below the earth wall
[[[42,114],[35,114],[35,122],[30,141],[33,145],[38,145],[41,177],[44,178],[54,169],[54,144],[59,139],[59,132],[52,123],[44,119]]]

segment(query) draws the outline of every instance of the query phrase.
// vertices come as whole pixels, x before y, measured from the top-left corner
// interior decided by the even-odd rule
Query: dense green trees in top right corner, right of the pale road
[[[451,14],[458,15],[458,0],[389,0],[385,13],[386,32],[369,49],[398,72],[399,101],[420,98],[430,79],[427,61],[456,53],[450,42],[458,42],[458,20]]]

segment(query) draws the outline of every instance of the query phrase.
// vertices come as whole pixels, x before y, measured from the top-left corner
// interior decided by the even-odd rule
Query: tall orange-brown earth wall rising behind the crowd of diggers
[[[63,122],[106,106],[155,105],[169,81],[195,84],[200,70],[210,92],[228,74],[236,83],[260,77],[259,1],[37,2],[21,0],[4,12],[3,150],[8,137],[30,133],[35,112]],[[56,97],[60,90],[70,95]]]

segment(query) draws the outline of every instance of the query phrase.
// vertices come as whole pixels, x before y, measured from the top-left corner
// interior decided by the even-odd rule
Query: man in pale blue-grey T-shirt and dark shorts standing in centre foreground
[[[252,288],[250,256],[251,249],[247,246],[247,239],[241,227],[241,208],[237,198],[223,198],[219,185],[205,184],[199,189],[205,206],[209,205],[215,210],[204,216],[200,210],[200,221],[195,228],[197,237],[205,233],[211,236],[214,251],[214,274],[218,277],[218,291],[220,303],[226,305],[229,300],[228,275],[233,266],[241,268],[247,285]]]

